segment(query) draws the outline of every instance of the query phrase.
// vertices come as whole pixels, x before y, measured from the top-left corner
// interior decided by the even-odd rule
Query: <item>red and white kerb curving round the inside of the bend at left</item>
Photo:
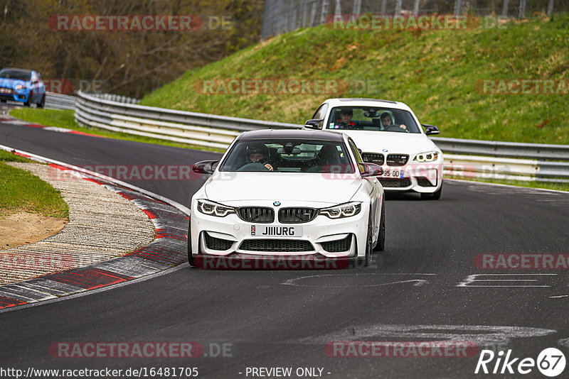
[[[185,213],[188,212],[186,207],[144,189],[80,167],[8,146],[0,145],[0,149],[41,163],[49,163],[60,170],[80,172],[83,179],[104,185],[142,209],[151,219],[156,232],[154,241],[125,256],[0,286],[0,312],[25,304],[53,300],[142,278],[187,262],[186,234],[189,218],[186,216],[188,213]]]

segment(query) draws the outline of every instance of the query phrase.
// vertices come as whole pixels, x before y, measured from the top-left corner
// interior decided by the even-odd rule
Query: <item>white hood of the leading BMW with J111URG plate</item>
[[[228,205],[251,199],[334,205],[349,202],[359,187],[355,174],[299,172],[215,172],[204,185],[208,199]]]

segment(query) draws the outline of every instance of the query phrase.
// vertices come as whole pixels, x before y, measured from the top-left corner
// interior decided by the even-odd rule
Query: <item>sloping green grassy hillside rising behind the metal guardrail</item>
[[[373,97],[407,103],[445,137],[569,144],[569,94],[476,89],[481,79],[569,80],[568,33],[568,16],[461,31],[304,28],[188,71],[141,104],[303,123],[326,98]],[[204,79],[223,78],[336,79],[339,90],[200,93]]]

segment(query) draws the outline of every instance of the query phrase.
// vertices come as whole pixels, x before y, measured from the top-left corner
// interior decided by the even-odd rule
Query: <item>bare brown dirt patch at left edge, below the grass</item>
[[[59,233],[68,222],[28,212],[0,214],[0,250],[41,241]]]

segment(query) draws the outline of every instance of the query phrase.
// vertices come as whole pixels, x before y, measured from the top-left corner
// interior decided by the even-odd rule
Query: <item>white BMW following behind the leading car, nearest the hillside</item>
[[[421,127],[409,106],[376,99],[328,99],[305,128],[346,133],[362,150],[365,162],[383,167],[386,191],[419,192],[423,199],[440,199],[442,152],[428,135],[436,126]]]

